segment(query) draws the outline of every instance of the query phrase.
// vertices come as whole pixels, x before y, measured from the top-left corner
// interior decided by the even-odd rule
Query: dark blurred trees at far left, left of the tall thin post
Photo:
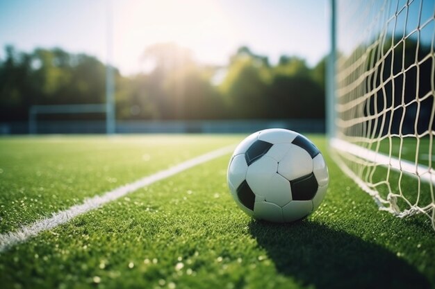
[[[104,64],[89,55],[58,48],[18,53],[7,46],[0,64],[0,118],[26,120],[31,105],[104,103],[105,77]]]

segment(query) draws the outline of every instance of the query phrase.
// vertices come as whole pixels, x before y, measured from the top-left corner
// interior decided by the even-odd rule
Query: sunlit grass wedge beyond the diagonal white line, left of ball
[[[0,233],[239,139],[183,135],[0,139]]]

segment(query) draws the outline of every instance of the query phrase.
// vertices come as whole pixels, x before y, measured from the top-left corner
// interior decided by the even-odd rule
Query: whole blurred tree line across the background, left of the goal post
[[[0,121],[26,121],[32,105],[104,103],[106,66],[60,48],[31,52],[6,46],[0,59]],[[195,62],[176,44],[154,44],[151,69],[123,76],[114,69],[116,117],[133,119],[322,119],[325,59],[309,67],[282,55],[277,64],[240,47],[228,65]],[[69,116],[44,116],[69,117]],[[104,116],[72,116],[102,119]]]

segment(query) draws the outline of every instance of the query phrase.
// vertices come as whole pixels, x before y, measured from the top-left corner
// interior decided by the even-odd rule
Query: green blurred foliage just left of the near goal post
[[[233,118],[321,119],[325,89],[315,76],[300,58],[283,55],[270,67],[267,58],[242,48],[231,58],[220,89]]]

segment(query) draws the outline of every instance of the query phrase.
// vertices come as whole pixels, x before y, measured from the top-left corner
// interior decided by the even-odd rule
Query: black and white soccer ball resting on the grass
[[[249,216],[293,222],[320,206],[329,182],[322,154],[309,139],[273,128],[249,135],[234,150],[227,181]]]

